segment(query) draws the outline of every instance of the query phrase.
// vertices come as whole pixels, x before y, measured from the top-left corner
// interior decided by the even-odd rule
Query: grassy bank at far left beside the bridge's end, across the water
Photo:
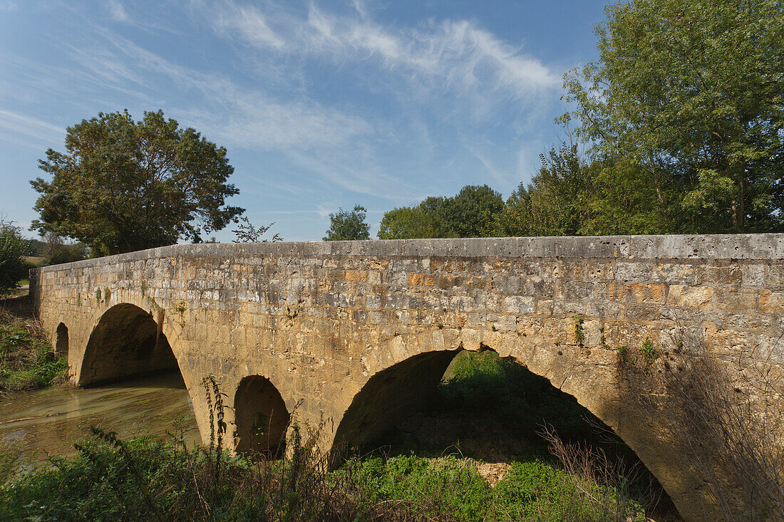
[[[19,299],[9,299],[16,302]],[[41,324],[24,306],[0,308],[0,394],[36,390],[64,379],[68,364],[56,357]]]

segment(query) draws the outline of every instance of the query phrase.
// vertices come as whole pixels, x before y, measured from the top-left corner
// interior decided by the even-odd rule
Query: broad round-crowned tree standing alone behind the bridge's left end
[[[162,111],[100,113],[69,127],[65,146],[39,161],[53,179],[31,181],[41,194],[32,228],[84,241],[93,256],[200,242],[244,212],[224,205],[238,194],[226,149]]]

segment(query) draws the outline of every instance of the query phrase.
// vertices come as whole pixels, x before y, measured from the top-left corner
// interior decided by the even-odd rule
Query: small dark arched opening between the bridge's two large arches
[[[237,451],[281,453],[291,415],[269,379],[249,375],[241,380],[234,394],[234,415]]]

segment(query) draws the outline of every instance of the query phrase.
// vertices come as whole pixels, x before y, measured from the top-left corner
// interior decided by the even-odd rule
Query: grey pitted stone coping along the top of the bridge
[[[88,268],[164,257],[366,256],[473,258],[602,259],[758,259],[784,258],[784,234],[703,234],[657,236],[462,237],[370,241],[281,243],[200,243],[170,245],[115,256],[44,266],[52,270]]]

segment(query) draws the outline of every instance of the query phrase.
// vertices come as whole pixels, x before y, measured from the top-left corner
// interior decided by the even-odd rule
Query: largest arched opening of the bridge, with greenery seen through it
[[[563,444],[561,450],[552,449],[554,444],[543,433],[545,427]],[[618,484],[627,477],[637,481],[626,498],[639,500],[644,509],[661,515],[662,520],[677,519],[677,511],[658,480],[601,419],[549,380],[493,350],[423,353],[374,375],[339,423],[332,465],[339,466],[342,459],[337,457],[347,453],[376,454],[383,459],[406,459],[409,455],[438,459],[452,454],[485,462],[485,471],[492,475],[482,475],[488,484],[491,480],[498,484],[510,473],[510,477],[514,475],[510,480],[522,482],[504,491],[523,488],[521,484],[536,491],[539,486],[532,484],[537,477],[568,474],[581,466],[579,451],[584,448],[596,448],[607,457],[606,461],[601,460],[604,457],[597,459],[597,466],[606,462],[606,467],[597,467],[598,474],[606,471],[609,477],[628,470],[626,475],[614,475]],[[561,460],[564,457],[577,459],[577,466]],[[479,467],[477,473],[485,473]],[[524,477],[528,469],[534,474]],[[626,483],[622,487],[626,488]],[[608,483],[608,488],[615,488],[615,484]],[[542,498],[546,495],[549,493],[543,492]]]

